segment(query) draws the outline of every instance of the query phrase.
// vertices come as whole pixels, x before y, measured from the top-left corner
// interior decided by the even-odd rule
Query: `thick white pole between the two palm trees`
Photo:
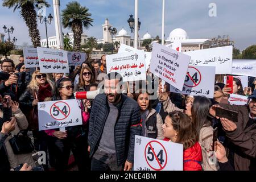
[[[53,0],[54,22],[55,22],[55,34],[57,39],[57,48],[63,48],[63,34],[62,24],[60,17],[60,0]]]

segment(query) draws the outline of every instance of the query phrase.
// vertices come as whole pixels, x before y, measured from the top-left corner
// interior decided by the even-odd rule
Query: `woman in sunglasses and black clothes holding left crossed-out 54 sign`
[[[60,78],[56,82],[55,95],[52,101],[74,99],[73,82],[69,78]],[[69,155],[72,151],[80,171],[90,169],[88,148],[89,113],[82,111],[82,124],[80,126],[65,127],[66,131],[59,129],[45,130],[51,136],[51,144],[54,148],[55,169],[64,171],[68,168]]]

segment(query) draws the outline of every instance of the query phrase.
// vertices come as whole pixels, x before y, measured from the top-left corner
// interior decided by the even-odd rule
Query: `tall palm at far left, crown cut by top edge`
[[[49,4],[45,0],[3,0],[3,6],[8,7],[9,9],[14,7],[14,11],[20,9],[20,15],[26,22],[31,42],[34,47],[41,46],[41,38],[36,22],[37,16],[35,10],[35,5],[38,5],[39,3],[44,3],[46,7],[49,7]]]

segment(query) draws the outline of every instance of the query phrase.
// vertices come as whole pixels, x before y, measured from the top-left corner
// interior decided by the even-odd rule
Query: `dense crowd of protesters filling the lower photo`
[[[167,77],[152,73],[152,63],[145,68],[146,79],[127,81],[132,73],[108,67],[106,57],[86,57],[65,73],[26,68],[23,56],[18,65],[1,61],[0,171],[66,171],[71,164],[79,171],[135,170],[135,135],[182,144],[184,171],[256,170],[255,77],[243,87],[233,75],[214,74],[209,98],[172,92]],[[142,74],[136,71],[132,76]],[[224,76],[233,82],[224,81]],[[99,89],[103,91],[93,98],[77,97]],[[245,104],[231,104],[232,94],[246,97]],[[75,100],[81,124],[42,129],[40,121],[51,121],[40,116],[40,103],[66,100]],[[67,115],[67,108],[56,108],[54,113]],[[223,110],[228,118],[225,112],[218,114]],[[36,156],[44,156],[44,163]]]

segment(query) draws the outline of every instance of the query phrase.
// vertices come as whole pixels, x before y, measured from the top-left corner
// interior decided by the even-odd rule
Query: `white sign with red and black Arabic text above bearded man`
[[[107,55],[106,68],[108,73],[120,73],[123,81],[146,80],[144,51]]]

